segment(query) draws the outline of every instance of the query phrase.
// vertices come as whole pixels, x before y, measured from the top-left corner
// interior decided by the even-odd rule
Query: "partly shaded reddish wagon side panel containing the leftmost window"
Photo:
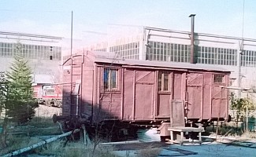
[[[94,105],[97,119],[121,119],[121,68],[101,65],[98,67],[98,96]]]

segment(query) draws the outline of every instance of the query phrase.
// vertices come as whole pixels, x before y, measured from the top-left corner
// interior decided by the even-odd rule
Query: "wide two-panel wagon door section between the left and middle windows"
[[[124,69],[124,120],[153,118],[154,71]]]

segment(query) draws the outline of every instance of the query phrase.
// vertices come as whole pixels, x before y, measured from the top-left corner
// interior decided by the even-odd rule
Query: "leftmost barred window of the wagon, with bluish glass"
[[[104,89],[115,90],[117,89],[117,69],[115,68],[104,68]]]

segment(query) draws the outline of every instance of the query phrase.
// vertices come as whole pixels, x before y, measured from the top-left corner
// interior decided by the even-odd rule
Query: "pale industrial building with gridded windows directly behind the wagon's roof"
[[[191,16],[191,31],[157,27],[136,29],[140,29],[134,31],[136,34],[120,34],[120,38],[111,38],[89,49],[115,52],[124,59],[213,64],[232,71],[229,86],[255,90],[256,39],[194,32],[194,15]]]

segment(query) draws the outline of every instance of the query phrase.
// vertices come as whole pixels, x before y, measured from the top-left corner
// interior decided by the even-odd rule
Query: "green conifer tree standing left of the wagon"
[[[8,103],[6,115],[12,122],[22,124],[28,122],[35,115],[35,104],[32,90],[32,71],[28,60],[15,57],[11,71],[7,72]]]

